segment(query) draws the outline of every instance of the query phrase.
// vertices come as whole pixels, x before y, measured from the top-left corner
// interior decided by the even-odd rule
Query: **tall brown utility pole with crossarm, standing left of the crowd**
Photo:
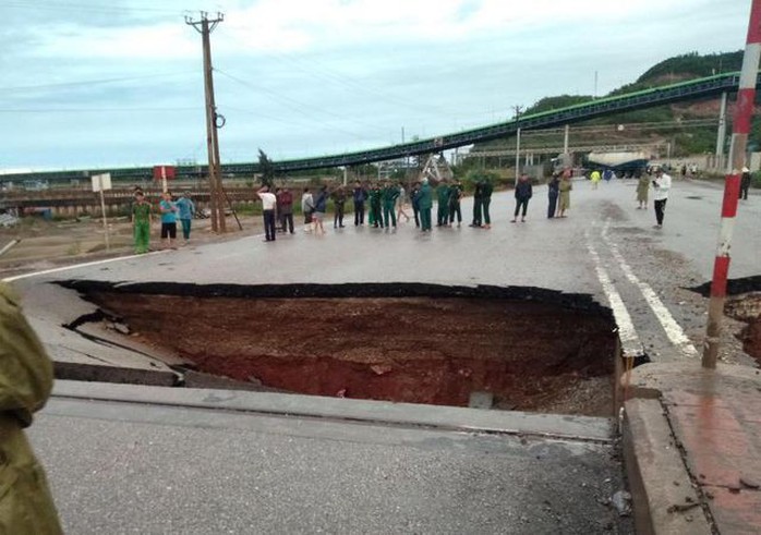
[[[225,232],[225,207],[222,205],[222,180],[219,173],[219,138],[217,130],[225,123],[225,118],[217,114],[217,106],[214,98],[214,76],[212,69],[212,44],[209,34],[217,24],[225,20],[225,15],[217,13],[216,19],[209,19],[208,13],[201,12],[201,20],[194,21],[185,16],[185,24],[193,26],[202,37],[204,49],[204,93],[206,95],[206,149],[208,153],[208,185],[209,206],[212,209],[212,230]],[[221,123],[219,120],[221,119]]]

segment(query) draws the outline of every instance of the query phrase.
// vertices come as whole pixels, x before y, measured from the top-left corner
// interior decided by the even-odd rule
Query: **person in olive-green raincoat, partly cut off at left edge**
[[[0,533],[63,533],[45,472],[23,429],[52,389],[52,364],[19,299],[0,282]]]

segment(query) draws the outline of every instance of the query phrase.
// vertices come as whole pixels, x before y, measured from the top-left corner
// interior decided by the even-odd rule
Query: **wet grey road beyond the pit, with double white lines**
[[[526,223],[509,222],[515,202],[509,193],[500,193],[492,202],[491,230],[467,226],[472,205],[466,199],[462,227],[434,228],[428,234],[411,223],[401,223],[396,232],[354,228],[347,218],[345,229],[334,230],[328,221],[323,236],[300,230],[265,243],[261,235],[249,235],[53,270],[19,279],[16,284],[26,295],[35,327],[49,333],[45,338],[53,355],[88,354],[57,328],[82,315],[81,302],[46,284],[73,279],[123,284],[434,282],[552,289],[589,294],[613,306],[621,329],[628,316],[626,330],[632,333],[632,344],[643,346],[654,361],[693,358],[702,344],[706,304],[686,289],[711,279],[722,190],[675,180],[660,230],[652,228],[652,203],[650,209],[638,210],[635,197],[633,181],[603,182],[592,190],[589,182],[577,180],[565,219],[546,218],[546,186],[539,186]],[[732,278],[761,275],[759,220],[761,196],[752,194],[740,203],[736,219]],[[614,306],[616,301],[620,303]],[[738,326],[729,327],[721,356],[741,361],[732,336]]]

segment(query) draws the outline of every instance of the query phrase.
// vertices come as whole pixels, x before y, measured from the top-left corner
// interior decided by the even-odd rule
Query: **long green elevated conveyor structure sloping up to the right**
[[[543,111],[541,113],[529,113],[521,115],[518,120],[466,130],[452,134],[446,134],[439,137],[431,137],[427,139],[420,139],[375,149],[359,150],[355,153],[345,153],[339,155],[293,160],[280,160],[274,161],[273,165],[278,172],[293,172],[310,169],[365,165],[376,161],[403,158],[407,156],[440,153],[442,150],[463,147],[474,143],[507,137],[515,134],[519,127],[522,131],[548,129],[672,102],[717,97],[723,93],[736,92],[739,85],[739,72],[717,74],[715,76],[696,78],[688,82],[654,87],[626,95],[599,98],[589,102],[569,106],[566,108],[558,108],[556,110]],[[757,76],[757,86],[760,83],[761,75]],[[222,177],[230,174],[251,175],[258,171],[258,163],[227,163],[222,165],[221,171]],[[114,181],[129,181],[152,177],[153,168],[135,167],[121,169],[4,174],[0,175],[0,180],[47,180],[50,182],[58,182],[83,179],[89,177],[90,174],[101,172],[110,172],[111,178]],[[181,166],[177,168],[178,179],[197,179],[205,175],[206,166]]]

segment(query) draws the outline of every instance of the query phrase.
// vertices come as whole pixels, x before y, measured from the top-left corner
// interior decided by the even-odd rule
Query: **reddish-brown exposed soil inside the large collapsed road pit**
[[[609,317],[497,299],[88,299],[198,369],[286,391],[609,416]]]

